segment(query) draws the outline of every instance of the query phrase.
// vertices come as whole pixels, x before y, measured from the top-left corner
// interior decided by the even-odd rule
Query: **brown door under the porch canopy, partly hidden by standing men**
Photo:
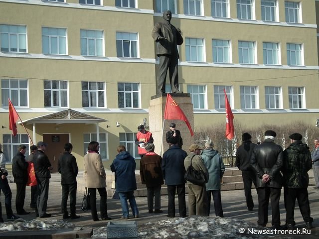
[[[64,144],[69,142],[68,133],[43,134],[43,142],[47,143],[45,154],[48,156],[53,167],[51,173],[58,171],[60,155],[64,152]]]

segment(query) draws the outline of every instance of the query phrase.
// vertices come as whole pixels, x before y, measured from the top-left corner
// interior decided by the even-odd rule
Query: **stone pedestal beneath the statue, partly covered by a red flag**
[[[194,131],[194,115],[193,115],[193,104],[189,94],[170,94],[175,103],[184,112],[184,115],[188,119],[191,128]],[[151,97],[149,107],[149,121],[150,131],[153,134],[155,152],[161,155],[168,149],[168,143],[166,143],[166,132],[169,130],[169,124],[174,122],[176,129],[180,131],[180,135],[183,139],[182,149],[187,153],[189,152],[189,146],[194,143],[194,138],[190,135],[189,129],[183,120],[177,119],[165,119],[164,130],[163,130],[163,119],[166,104],[166,94],[156,95]],[[163,130],[163,131],[162,131]]]

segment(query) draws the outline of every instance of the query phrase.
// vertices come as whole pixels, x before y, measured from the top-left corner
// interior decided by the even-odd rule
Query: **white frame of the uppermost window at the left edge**
[[[12,28],[17,28],[17,32],[14,32]],[[4,30],[4,28],[7,28],[7,31]],[[11,28],[11,29],[10,29]],[[24,33],[19,32],[20,29],[24,28]],[[5,37],[7,35],[7,37]],[[7,38],[7,51],[5,51],[4,47],[2,47],[3,39]],[[14,39],[15,38],[15,39]],[[11,48],[12,42],[16,44],[16,48]],[[25,48],[20,47],[20,45],[25,44]],[[28,52],[28,42],[27,42],[27,27],[26,25],[11,25],[11,24],[0,24],[0,51],[1,52],[10,52],[10,53],[27,53]],[[16,49],[16,51],[11,50]]]

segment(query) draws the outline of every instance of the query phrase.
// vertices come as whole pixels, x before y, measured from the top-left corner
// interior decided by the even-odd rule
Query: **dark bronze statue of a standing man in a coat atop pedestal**
[[[171,11],[163,12],[164,22],[157,22],[152,31],[153,39],[157,44],[157,56],[160,58],[158,72],[157,94],[165,93],[167,69],[172,93],[181,93],[178,90],[178,51],[177,45],[183,43],[180,30],[170,24]]]

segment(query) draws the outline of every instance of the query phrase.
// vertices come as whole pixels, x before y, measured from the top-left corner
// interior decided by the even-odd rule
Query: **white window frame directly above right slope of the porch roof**
[[[84,85],[87,84],[87,89],[83,89]],[[99,85],[103,84],[103,89],[99,89]],[[106,84],[105,82],[97,82],[97,81],[82,81],[82,107],[83,108],[106,108]],[[93,89],[92,89],[93,87]],[[85,93],[87,93],[87,103],[88,106],[84,106],[83,99],[85,97]],[[102,95],[103,101],[101,102],[103,106],[100,106],[99,103],[99,95]],[[92,102],[93,99],[93,102]],[[93,103],[96,103],[93,105]]]

